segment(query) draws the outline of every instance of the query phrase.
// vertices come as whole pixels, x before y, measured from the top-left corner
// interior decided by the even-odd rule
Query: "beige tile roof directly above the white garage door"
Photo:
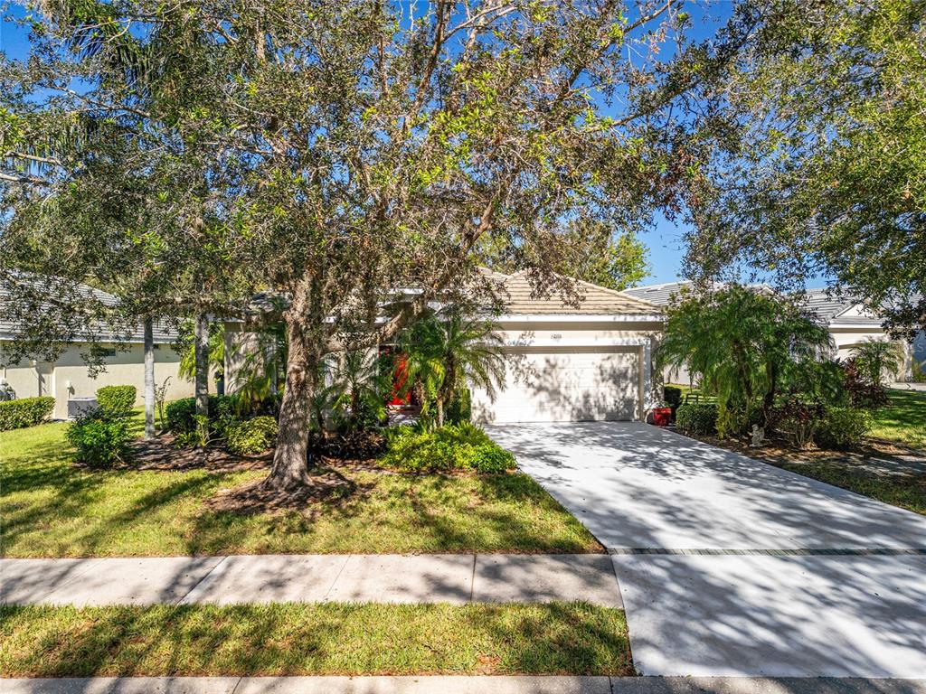
[[[500,275],[500,273],[497,273]],[[582,316],[653,316],[660,313],[659,307],[623,291],[599,287],[591,282],[577,280],[582,294],[579,306],[563,302],[556,291],[549,296],[537,296],[526,272],[501,275],[499,281],[507,293],[507,313],[529,314],[574,314]]]

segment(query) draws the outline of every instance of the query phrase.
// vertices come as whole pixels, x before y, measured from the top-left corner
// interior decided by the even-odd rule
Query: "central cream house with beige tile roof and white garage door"
[[[578,307],[537,298],[526,274],[490,273],[507,298],[499,324],[507,362],[495,397],[472,392],[477,422],[643,419],[653,406],[652,350],[659,309],[619,291],[580,282]],[[402,292],[397,292],[402,293]],[[414,295],[414,291],[405,291]],[[256,297],[256,304],[264,297]],[[248,354],[264,347],[244,323],[226,324],[226,386],[234,390]]]

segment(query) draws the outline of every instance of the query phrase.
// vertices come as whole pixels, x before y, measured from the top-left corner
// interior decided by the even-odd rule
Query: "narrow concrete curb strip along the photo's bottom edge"
[[[94,677],[0,679],[4,694],[924,694],[926,680],[582,677]]]

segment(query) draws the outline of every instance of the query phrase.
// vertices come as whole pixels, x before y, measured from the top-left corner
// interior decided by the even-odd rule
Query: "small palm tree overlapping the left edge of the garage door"
[[[425,316],[400,341],[407,353],[407,388],[418,391],[422,414],[434,406],[435,423],[444,426],[444,408],[457,390],[469,386],[490,394],[505,377],[505,359],[497,326],[459,311]]]

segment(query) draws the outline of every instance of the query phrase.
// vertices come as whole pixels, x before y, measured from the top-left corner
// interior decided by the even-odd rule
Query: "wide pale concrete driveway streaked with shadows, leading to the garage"
[[[612,553],[644,675],[926,677],[926,517],[639,423],[488,430]]]

